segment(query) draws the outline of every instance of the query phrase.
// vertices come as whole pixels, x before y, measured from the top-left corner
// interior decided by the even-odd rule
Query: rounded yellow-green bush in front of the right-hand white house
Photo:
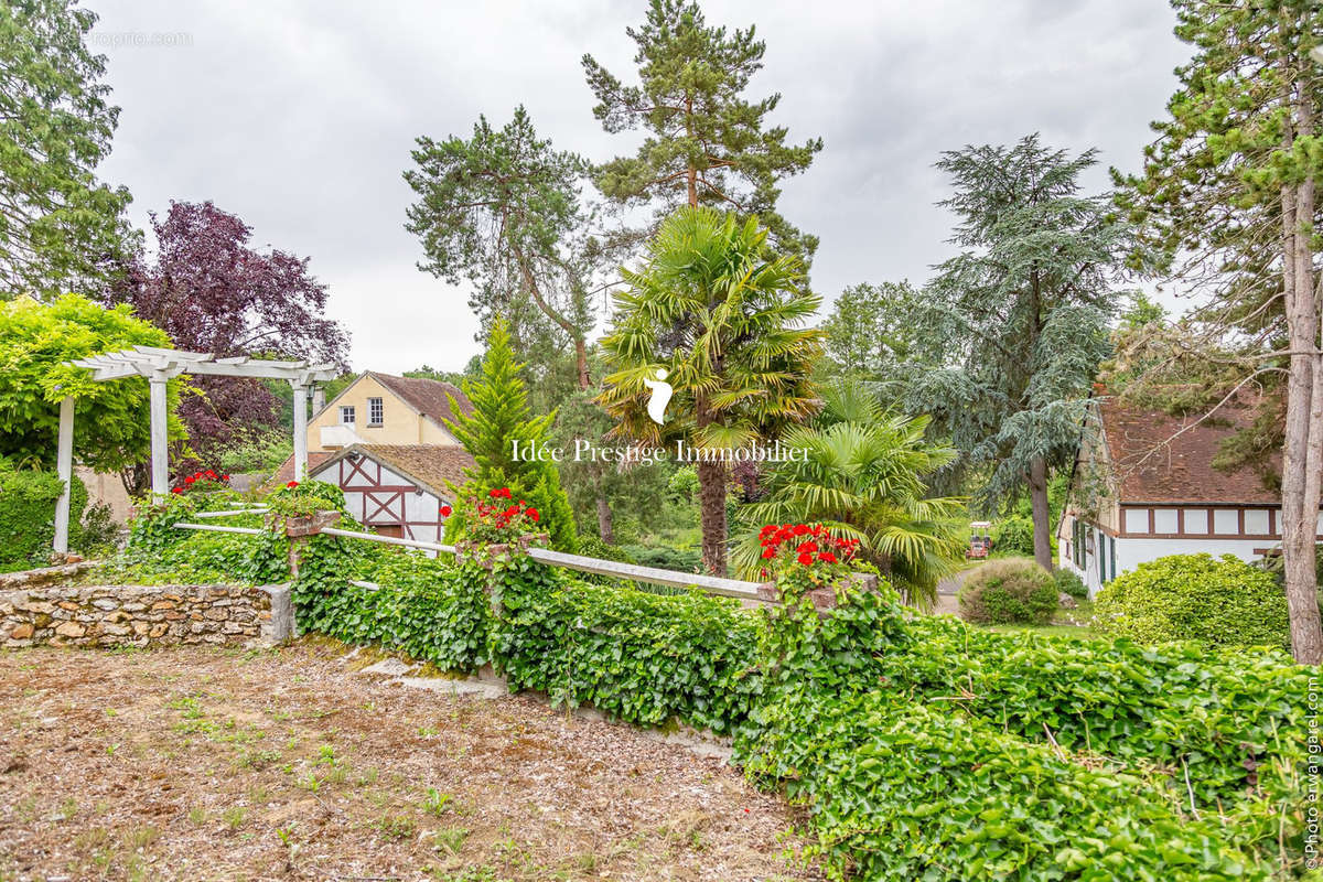
[[[1095,625],[1138,643],[1196,640],[1208,647],[1287,647],[1286,595],[1277,581],[1225,554],[1172,554],[1113,579]]]

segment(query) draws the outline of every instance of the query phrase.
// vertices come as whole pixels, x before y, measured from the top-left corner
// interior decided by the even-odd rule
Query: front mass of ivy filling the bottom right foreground
[[[832,879],[1267,879],[1213,820],[950,706],[792,693],[738,760],[810,807]]]

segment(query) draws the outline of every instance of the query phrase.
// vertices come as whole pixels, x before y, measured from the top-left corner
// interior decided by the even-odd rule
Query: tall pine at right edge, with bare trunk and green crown
[[[1318,291],[1323,210],[1323,45],[1318,0],[1172,0],[1176,36],[1195,56],[1176,70],[1170,118],[1144,152],[1143,175],[1123,179],[1122,205],[1143,223],[1136,263],[1197,287],[1189,317],[1209,352],[1232,342],[1257,352],[1237,385],[1267,397],[1281,432],[1282,555],[1297,661],[1323,664],[1314,571],[1323,499],[1323,296]],[[1156,261],[1142,258],[1156,254]],[[1275,401],[1274,401],[1275,398]],[[1257,421],[1256,431],[1263,431]]]

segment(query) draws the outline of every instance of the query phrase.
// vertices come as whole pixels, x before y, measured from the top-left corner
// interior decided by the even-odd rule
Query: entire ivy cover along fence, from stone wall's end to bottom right
[[[517,543],[431,561],[328,536],[296,611],[442,669],[491,662],[557,703],[732,734],[753,780],[807,807],[832,879],[1303,873],[1307,672],[1279,649],[919,615],[885,581],[865,590],[828,534],[785,526],[763,540],[783,600],[766,611],[586,583]]]

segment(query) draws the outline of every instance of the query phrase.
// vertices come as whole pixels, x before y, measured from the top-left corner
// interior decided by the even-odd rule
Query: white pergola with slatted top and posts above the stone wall
[[[151,389],[152,421],[152,497],[164,499],[169,492],[169,454],[167,450],[165,383],[180,374],[212,377],[253,377],[286,380],[294,389],[294,473],[302,476],[308,467],[308,389],[333,380],[332,365],[308,361],[267,361],[237,356],[217,358],[205,352],[181,352],[155,346],[134,346],[67,362],[93,372],[93,380],[106,382],[124,377],[146,377]],[[74,398],[60,402],[60,440],[56,468],[65,492],[56,502],[56,551],[69,550],[69,488],[74,461]]]

